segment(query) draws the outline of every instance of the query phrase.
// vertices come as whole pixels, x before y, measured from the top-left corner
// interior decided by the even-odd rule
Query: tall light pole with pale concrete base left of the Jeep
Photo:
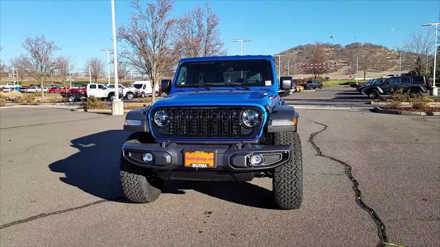
[[[116,45],[115,0],[111,0],[111,27],[113,32],[113,67],[115,71],[115,99],[113,99],[113,102],[111,102],[111,115],[124,115],[124,102],[122,102],[122,100],[119,99],[118,49]],[[109,78],[110,78],[110,73],[109,73]]]

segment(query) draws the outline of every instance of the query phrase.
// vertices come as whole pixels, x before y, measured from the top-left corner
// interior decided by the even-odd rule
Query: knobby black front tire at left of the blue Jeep
[[[139,142],[135,139],[129,141]],[[132,165],[121,156],[119,170],[122,193],[131,202],[154,202],[160,195],[164,180],[148,174],[147,169]]]

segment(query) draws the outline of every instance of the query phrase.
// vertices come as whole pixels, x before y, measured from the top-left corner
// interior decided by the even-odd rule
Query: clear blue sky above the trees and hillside
[[[395,48],[412,32],[439,21],[440,1],[177,1],[173,15],[210,3],[220,18],[229,55],[239,54],[230,40],[250,38],[245,54],[276,54],[308,43],[374,43]],[[106,60],[102,48],[111,47],[110,0],[0,0],[1,60],[23,54],[25,34],[44,34],[72,56],[83,69],[91,56]],[[144,3],[143,3],[144,4]],[[130,1],[118,0],[116,21],[129,21]],[[433,27],[432,27],[433,28]],[[330,38],[333,36],[334,38]]]

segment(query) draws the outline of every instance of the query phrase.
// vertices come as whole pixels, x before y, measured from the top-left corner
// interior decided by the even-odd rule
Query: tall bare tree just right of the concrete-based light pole
[[[154,102],[160,77],[169,71],[177,57],[172,44],[173,26],[176,23],[171,17],[173,1],[157,0],[147,3],[146,8],[139,1],[134,1],[132,7],[131,23],[118,30],[123,45],[121,55],[139,73],[148,75]]]

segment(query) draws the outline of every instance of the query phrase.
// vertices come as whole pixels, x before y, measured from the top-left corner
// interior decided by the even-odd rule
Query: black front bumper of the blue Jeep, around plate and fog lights
[[[153,154],[153,161],[146,163],[142,156]],[[184,152],[214,152],[215,167],[184,167]],[[129,143],[122,146],[124,158],[140,167],[153,169],[164,179],[187,180],[252,180],[261,172],[269,171],[292,158],[292,145],[259,145],[250,143],[181,144]],[[261,165],[251,165],[250,156],[263,156]]]

